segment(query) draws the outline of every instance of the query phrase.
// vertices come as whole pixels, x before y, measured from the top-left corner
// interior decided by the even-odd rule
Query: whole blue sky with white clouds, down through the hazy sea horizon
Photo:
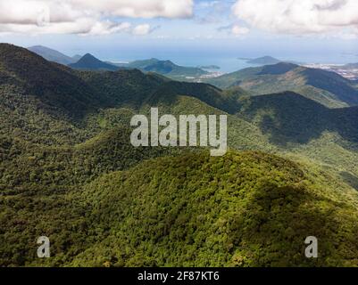
[[[0,0],[1,42],[112,61],[346,63],[358,61],[357,36],[356,0]]]

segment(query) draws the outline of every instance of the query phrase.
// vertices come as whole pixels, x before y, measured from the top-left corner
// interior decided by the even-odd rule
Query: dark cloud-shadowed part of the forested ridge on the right
[[[246,97],[241,102],[240,114],[260,124],[277,142],[310,142],[325,131],[358,142],[357,107],[329,109],[291,92]]]

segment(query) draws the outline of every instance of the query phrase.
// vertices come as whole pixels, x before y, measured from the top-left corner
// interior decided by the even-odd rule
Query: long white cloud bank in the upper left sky
[[[187,18],[193,0],[0,0],[0,32],[107,35],[150,33],[148,24],[131,28],[127,18]]]

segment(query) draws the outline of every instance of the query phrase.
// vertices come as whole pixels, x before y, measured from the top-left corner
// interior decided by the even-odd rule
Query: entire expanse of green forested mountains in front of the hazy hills
[[[75,70],[4,44],[0,100],[1,266],[358,265],[356,107]],[[134,148],[130,118],[151,107],[227,115],[231,150]]]

